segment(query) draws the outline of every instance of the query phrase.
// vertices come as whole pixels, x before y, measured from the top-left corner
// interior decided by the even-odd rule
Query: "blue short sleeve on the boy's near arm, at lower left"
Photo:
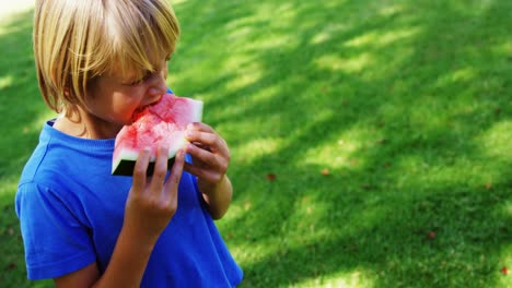
[[[15,208],[30,279],[62,276],[96,261],[90,229],[66,202],[33,182],[19,187]]]

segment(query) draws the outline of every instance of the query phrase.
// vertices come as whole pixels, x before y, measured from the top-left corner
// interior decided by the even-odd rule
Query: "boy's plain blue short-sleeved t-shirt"
[[[51,125],[44,125],[15,197],[28,278],[54,278],[93,262],[103,273],[123,226],[131,177],[110,175],[114,139],[73,137]],[[178,208],[154,247],[141,287],[230,287],[242,277],[196,178],[184,172]]]

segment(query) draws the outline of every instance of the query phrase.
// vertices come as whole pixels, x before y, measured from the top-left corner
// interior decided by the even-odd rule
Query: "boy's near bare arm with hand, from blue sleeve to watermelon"
[[[147,179],[148,151],[137,159],[133,182],[125,207],[125,219],[110,262],[103,275],[96,263],[55,278],[58,288],[139,287],[153,247],[177,208],[177,185],[182,177],[184,151],[178,152],[167,172],[167,148],[159,149],[154,172]]]

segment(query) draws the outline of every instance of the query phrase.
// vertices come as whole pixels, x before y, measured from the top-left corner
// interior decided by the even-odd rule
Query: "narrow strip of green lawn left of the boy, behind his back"
[[[32,55],[32,11],[0,21],[0,283],[2,287],[50,287],[26,280],[23,243],[14,213],[18,179],[37,143],[47,109],[37,88]]]

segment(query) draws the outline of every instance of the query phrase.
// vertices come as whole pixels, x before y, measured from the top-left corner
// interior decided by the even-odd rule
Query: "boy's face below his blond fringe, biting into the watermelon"
[[[166,77],[165,59],[162,59],[156,71],[148,72],[141,80],[123,77],[120,72],[104,74],[90,85],[85,96],[88,112],[97,118],[97,124],[129,124],[135,111],[158,101],[166,93]]]

